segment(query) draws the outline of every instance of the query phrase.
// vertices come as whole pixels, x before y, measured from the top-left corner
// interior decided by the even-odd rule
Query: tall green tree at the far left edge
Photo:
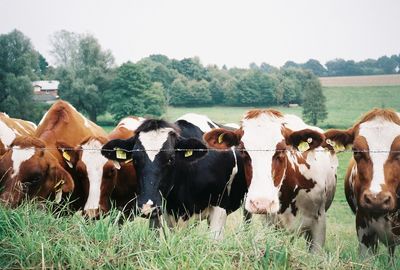
[[[0,35],[0,111],[38,120],[31,81],[39,75],[39,53],[29,38],[18,30]]]

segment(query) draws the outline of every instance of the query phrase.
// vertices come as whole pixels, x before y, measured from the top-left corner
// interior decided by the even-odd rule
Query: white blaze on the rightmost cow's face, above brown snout
[[[373,175],[369,189],[372,193],[379,193],[382,191],[382,185],[385,184],[384,164],[389,157],[393,140],[400,135],[400,126],[377,117],[362,123],[359,135],[366,139],[370,150]]]

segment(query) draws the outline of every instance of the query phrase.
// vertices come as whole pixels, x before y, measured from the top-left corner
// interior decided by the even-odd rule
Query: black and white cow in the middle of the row
[[[168,225],[192,216],[207,218],[212,237],[223,237],[227,215],[242,203],[247,185],[243,161],[235,149],[208,151],[202,141],[208,121],[175,123],[148,119],[127,140],[111,140],[102,154],[124,162],[132,159],[138,178],[141,214],[157,218],[165,199]]]

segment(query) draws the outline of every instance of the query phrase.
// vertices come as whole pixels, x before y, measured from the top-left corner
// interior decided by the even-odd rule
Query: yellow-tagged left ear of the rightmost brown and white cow
[[[330,129],[325,132],[324,147],[335,152],[342,152],[354,141],[354,129],[348,130]]]

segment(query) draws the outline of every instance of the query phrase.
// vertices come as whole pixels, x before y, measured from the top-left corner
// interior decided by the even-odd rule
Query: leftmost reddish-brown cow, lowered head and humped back
[[[90,135],[105,131],[65,101],[54,103],[43,116],[35,136],[17,137],[0,160],[4,191],[0,201],[11,207],[24,197],[60,201],[75,183],[66,171],[72,166],[63,145],[77,145]]]

